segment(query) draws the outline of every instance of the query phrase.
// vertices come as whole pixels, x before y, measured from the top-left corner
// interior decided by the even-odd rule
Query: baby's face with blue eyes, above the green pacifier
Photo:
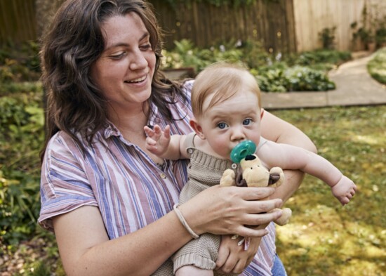
[[[260,141],[260,108],[258,96],[243,90],[221,103],[208,107],[209,96],[204,101],[204,113],[199,119],[202,132],[213,151],[229,159],[230,152],[243,140]]]

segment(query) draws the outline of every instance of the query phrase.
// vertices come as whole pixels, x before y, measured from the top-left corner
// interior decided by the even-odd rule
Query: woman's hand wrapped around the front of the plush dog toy
[[[265,229],[248,225],[265,225],[281,216],[281,211],[268,213],[282,204],[281,199],[262,200],[272,195],[274,188],[239,188],[215,185],[200,192],[179,208],[188,225],[198,235],[262,237]]]

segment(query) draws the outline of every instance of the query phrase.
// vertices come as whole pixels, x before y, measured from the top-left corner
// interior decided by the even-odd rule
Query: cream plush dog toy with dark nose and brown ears
[[[222,173],[220,185],[222,186],[248,186],[248,187],[279,187],[284,182],[283,170],[273,167],[268,171],[257,155],[247,155],[240,161],[240,171],[236,174],[232,169],[227,169]],[[267,198],[266,198],[267,199]],[[263,200],[263,199],[262,199]],[[275,211],[274,209],[272,211]],[[291,218],[292,211],[289,208],[282,209],[283,214],[275,223],[285,225]]]

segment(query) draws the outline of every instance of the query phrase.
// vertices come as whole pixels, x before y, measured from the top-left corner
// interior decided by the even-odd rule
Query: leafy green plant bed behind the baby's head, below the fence
[[[231,41],[211,48],[197,48],[187,39],[175,41],[173,51],[163,51],[164,69],[193,67],[197,74],[207,65],[226,60],[241,63],[255,75],[260,89],[269,92],[327,91],[335,84],[328,70],[350,60],[351,53],[321,49],[300,54],[267,53],[257,41]]]

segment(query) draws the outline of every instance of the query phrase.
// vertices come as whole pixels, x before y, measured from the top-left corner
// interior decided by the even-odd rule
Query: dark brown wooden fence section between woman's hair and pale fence
[[[164,0],[150,1],[166,31],[166,48],[173,41],[190,39],[195,45],[208,47],[224,41],[253,39],[271,51],[295,51],[293,1],[256,0],[254,4],[219,7],[193,2],[191,7],[171,7]]]

